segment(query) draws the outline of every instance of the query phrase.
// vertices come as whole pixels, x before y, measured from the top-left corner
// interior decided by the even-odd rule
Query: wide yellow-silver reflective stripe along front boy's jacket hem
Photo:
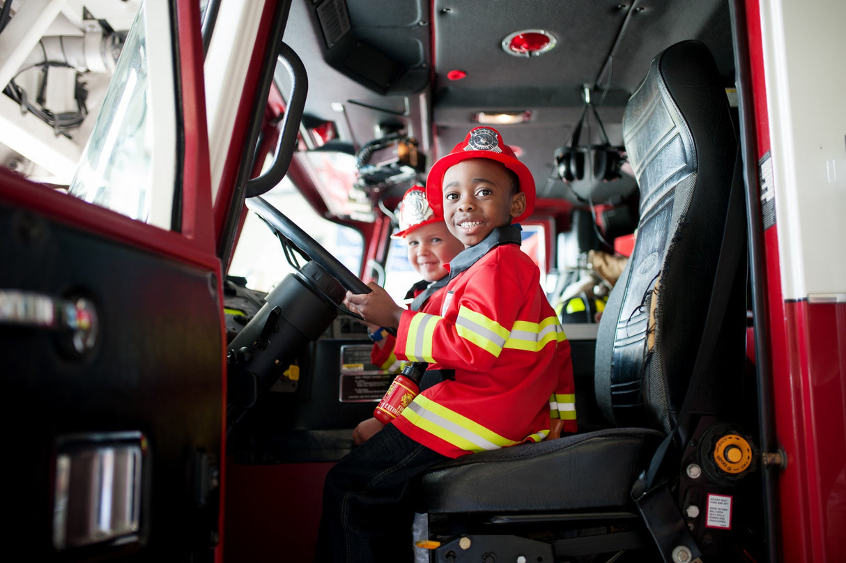
[[[414,402],[403,411],[403,417],[416,427],[464,451],[497,450],[519,444],[519,441],[508,440],[423,395],[415,397]]]

